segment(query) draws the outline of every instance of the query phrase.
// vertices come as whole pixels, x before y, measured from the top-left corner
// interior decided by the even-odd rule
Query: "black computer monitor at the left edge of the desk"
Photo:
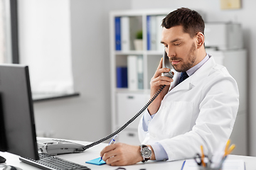
[[[0,64],[0,125],[0,151],[39,159],[28,66]]]

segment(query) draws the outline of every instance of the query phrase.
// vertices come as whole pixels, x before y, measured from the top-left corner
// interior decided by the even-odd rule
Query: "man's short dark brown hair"
[[[205,24],[202,16],[189,8],[178,8],[169,13],[162,21],[161,26],[171,28],[174,26],[183,26],[184,33],[188,33],[193,38],[196,33],[204,34]]]

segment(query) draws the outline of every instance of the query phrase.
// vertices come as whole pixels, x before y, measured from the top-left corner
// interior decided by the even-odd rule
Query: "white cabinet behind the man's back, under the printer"
[[[230,136],[236,145],[233,154],[247,155],[247,52],[241,50],[206,50],[215,62],[224,65],[238,83],[239,108]]]

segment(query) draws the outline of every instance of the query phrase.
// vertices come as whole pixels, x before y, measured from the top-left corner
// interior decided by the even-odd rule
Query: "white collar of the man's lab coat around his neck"
[[[208,77],[210,74],[210,71],[212,70],[213,66],[215,65],[215,60],[211,55],[209,55],[209,60],[204,63],[191,77],[188,77],[188,79],[184,80],[181,84],[178,84],[178,77],[180,77],[180,72],[174,72],[174,82],[171,84],[170,91],[179,91],[179,90],[188,90],[193,88],[193,86],[196,86],[202,79],[205,77]]]

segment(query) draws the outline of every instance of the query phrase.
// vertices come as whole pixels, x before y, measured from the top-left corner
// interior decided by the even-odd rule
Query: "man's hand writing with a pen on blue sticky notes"
[[[152,150],[152,159],[154,157],[153,154],[154,152]],[[100,152],[100,157],[111,166],[136,164],[143,160],[139,146],[127,145],[124,143],[117,143],[105,147],[102,149],[102,152]]]

